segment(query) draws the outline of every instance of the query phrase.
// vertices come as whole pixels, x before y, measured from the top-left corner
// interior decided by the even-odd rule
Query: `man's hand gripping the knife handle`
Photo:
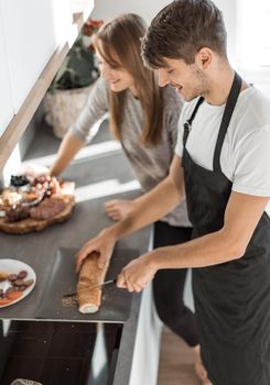
[[[154,252],[131,261],[118,275],[117,286],[129,292],[141,292],[154,277],[156,266],[153,263]]]

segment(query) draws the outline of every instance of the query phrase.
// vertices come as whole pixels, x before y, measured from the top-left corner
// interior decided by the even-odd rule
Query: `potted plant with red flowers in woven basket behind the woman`
[[[99,76],[91,35],[101,24],[90,18],[85,22],[44,98],[45,121],[57,138],[62,139],[76,120]]]

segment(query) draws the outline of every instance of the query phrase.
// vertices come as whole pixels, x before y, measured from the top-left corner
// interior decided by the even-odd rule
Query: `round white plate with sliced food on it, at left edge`
[[[0,260],[0,308],[19,302],[34,288],[35,272],[18,260]]]

